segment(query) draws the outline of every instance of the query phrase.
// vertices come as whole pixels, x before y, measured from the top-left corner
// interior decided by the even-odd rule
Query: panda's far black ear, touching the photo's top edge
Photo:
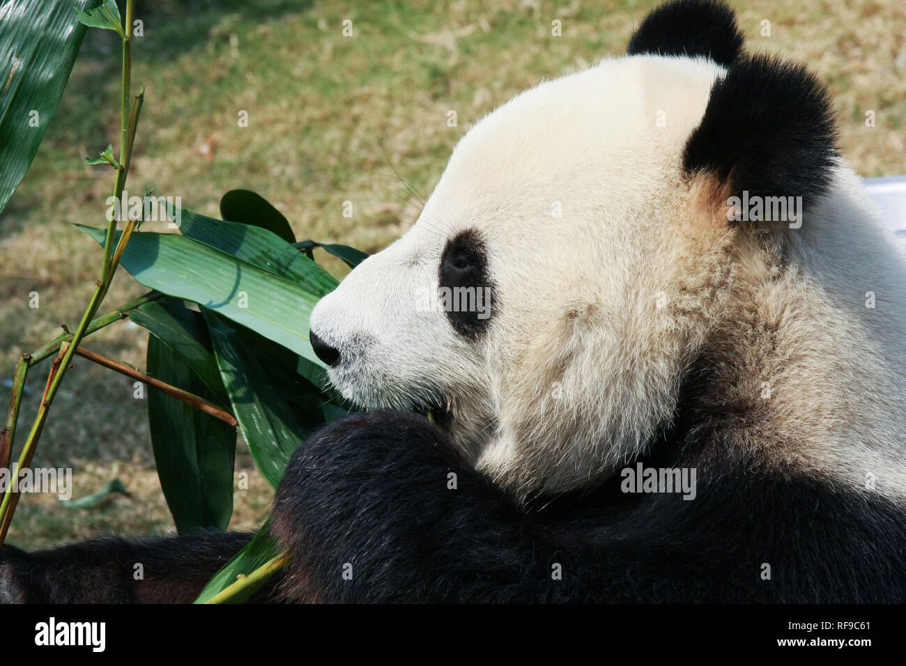
[[[725,67],[742,53],[736,13],[715,0],[673,0],[648,14],[626,49],[627,55],[704,56]]]

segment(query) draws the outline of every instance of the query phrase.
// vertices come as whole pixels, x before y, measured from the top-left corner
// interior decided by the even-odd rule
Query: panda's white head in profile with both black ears
[[[731,316],[729,285],[772,270],[789,236],[728,221],[728,198],[807,213],[837,159],[821,86],[741,45],[726,6],[663,5],[626,56],[479,121],[417,223],[315,307],[333,385],[366,409],[435,410],[520,495],[644,450]]]

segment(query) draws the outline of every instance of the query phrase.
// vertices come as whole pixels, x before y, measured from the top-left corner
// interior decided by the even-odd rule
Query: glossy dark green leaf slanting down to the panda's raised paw
[[[324,399],[317,387],[257,344],[256,333],[203,312],[239,428],[262,476],[277,487],[295,449],[324,422]]]

